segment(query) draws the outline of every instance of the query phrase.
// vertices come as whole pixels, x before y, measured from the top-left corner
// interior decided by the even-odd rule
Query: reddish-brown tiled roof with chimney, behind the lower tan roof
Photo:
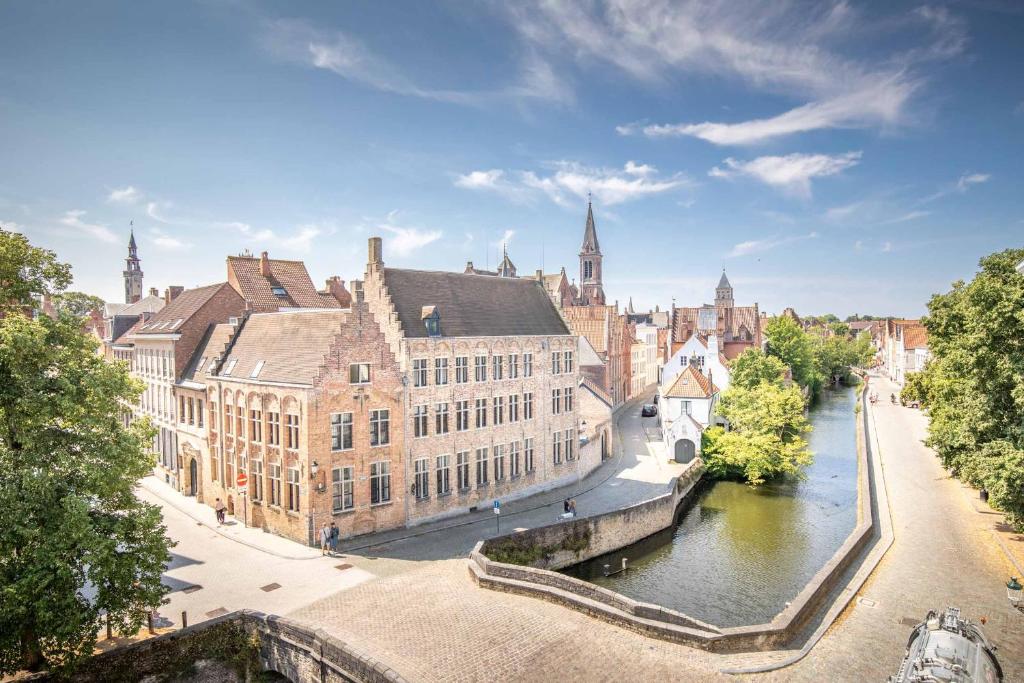
[[[256,310],[289,308],[340,308],[341,304],[330,294],[317,292],[309,271],[302,261],[267,259],[270,276],[260,272],[260,259],[256,256],[228,256],[227,269],[234,273],[228,280],[238,283],[236,289]],[[271,288],[282,287],[284,296]]]

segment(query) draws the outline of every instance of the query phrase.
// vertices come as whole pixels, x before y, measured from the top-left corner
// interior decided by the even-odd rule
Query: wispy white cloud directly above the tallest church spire
[[[509,173],[499,169],[473,171],[456,179],[456,185],[472,189],[489,189],[506,196],[519,197],[525,190],[545,195],[559,206],[574,206],[573,197],[586,199],[588,193],[611,206],[641,197],[657,195],[689,184],[682,174],[658,176],[648,164],[628,161],[622,169],[597,168],[577,162],[558,161],[547,165],[546,175],[535,171]]]

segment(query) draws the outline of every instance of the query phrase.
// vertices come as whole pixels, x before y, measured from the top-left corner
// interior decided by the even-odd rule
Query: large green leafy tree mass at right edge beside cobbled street
[[[928,407],[928,443],[942,462],[989,492],[1024,530],[1024,249],[981,259],[928,304],[932,360],[908,388]],[[907,389],[903,390],[906,398]]]

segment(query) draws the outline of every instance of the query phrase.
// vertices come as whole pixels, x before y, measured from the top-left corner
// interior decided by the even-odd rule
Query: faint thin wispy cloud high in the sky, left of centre
[[[283,59],[323,69],[345,80],[397,95],[473,106],[510,100],[573,101],[572,89],[531,49],[523,50],[515,81],[497,88],[472,90],[423,86],[353,35],[323,31],[300,19],[266,22],[263,42]]]

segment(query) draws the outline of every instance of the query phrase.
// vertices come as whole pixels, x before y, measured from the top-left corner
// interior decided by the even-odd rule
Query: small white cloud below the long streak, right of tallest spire
[[[843,155],[792,154],[785,157],[758,157],[741,162],[726,159],[724,168],[716,166],[708,175],[715,178],[749,176],[785,193],[810,197],[811,179],[842,173],[860,161],[860,152]]]

